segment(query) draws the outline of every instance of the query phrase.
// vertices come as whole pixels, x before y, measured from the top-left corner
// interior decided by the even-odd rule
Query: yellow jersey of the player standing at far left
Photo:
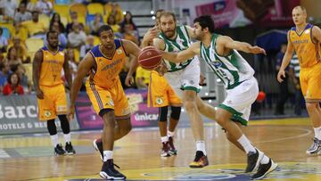
[[[51,52],[46,46],[40,49],[43,52],[43,62],[40,70],[40,86],[57,86],[63,84],[62,66],[64,62],[64,52],[62,47],[58,47],[57,52]]]

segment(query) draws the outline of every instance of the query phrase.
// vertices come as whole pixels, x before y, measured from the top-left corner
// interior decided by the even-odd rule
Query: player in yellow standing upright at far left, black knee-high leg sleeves
[[[52,139],[54,154],[62,155],[76,153],[70,142],[70,123],[67,119],[67,99],[62,81],[62,67],[68,85],[71,87],[71,74],[67,55],[58,46],[58,33],[49,31],[46,34],[48,45],[35,54],[33,61],[33,83],[36,88],[38,116],[40,121],[46,121]],[[65,150],[58,143],[57,128],[54,119],[61,121],[62,132],[66,142]]]

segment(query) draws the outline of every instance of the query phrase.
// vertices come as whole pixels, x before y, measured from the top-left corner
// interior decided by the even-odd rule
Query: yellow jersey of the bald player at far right
[[[312,29],[313,25],[309,23],[300,35],[295,27],[290,29],[289,40],[298,55],[300,68],[311,68],[320,60],[319,45],[313,42]]]

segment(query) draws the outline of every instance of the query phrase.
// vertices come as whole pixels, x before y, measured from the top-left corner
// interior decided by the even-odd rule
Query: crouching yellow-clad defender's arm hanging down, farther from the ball
[[[71,94],[70,94],[70,109],[68,111],[69,119],[73,119],[75,113],[75,102],[79,92],[79,89],[82,85],[82,80],[86,77],[88,71],[95,67],[95,60],[91,53],[86,53],[84,59],[79,63],[78,70],[75,79],[72,82]]]

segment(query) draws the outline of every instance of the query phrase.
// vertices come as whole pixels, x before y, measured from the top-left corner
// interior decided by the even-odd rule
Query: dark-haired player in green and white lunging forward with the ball
[[[195,37],[201,42],[193,43],[179,53],[161,51],[163,58],[178,63],[185,62],[195,55],[201,55],[210,69],[222,80],[226,86],[226,100],[218,105],[217,111],[212,110],[213,114],[208,117],[215,119],[230,135],[232,143],[242,147],[246,152],[248,164],[245,172],[258,168],[257,173],[251,178],[263,178],[276,169],[277,164],[255,148],[243,135],[240,124],[235,122],[247,125],[251,103],[255,102],[259,94],[258,82],[253,77],[254,70],[237,50],[245,53],[265,53],[265,51],[258,46],[251,46],[248,43],[234,41],[231,37],[215,34],[214,22],[208,15],[200,16],[193,22]]]

